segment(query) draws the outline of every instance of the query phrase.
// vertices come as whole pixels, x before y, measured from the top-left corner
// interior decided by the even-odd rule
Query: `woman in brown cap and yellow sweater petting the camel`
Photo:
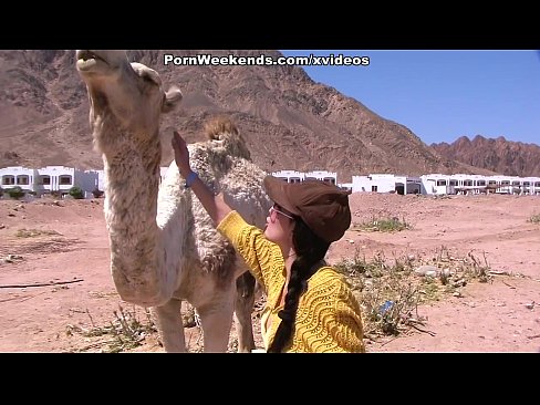
[[[267,292],[261,316],[271,352],[364,352],[360,307],[343,276],[324,262],[330,243],[351,225],[349,191],[319,180],[288,184],[264,178],[270,208],[262,232],[215,196],[191,170],[175,131],[175,160],[217,229],[243,257]]]

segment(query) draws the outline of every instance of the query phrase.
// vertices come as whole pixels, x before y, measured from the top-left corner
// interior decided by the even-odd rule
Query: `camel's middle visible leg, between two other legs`
[[[235,290],[231,289],[221,297],[221,300],[196,308],[202,326],[205,352],[227,352],[232,325]]]

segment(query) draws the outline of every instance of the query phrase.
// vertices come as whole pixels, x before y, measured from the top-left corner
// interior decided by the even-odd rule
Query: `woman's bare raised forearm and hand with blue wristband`
[[[176,131],[173,134],[173,148],[175,149],[176,166],[178,166],[181,177],[190,181],[189,187],[208,211],[214,225],[217,226],[231,211],[231,208],[225,202],[222,194],[215,196],[199,176],[191,170],[186,142]]]

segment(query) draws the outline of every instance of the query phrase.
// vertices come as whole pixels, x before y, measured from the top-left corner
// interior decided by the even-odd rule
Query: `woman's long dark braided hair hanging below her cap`
[[[268,353],[280,353],[290,343],[294,334],[294,321],[300,295],[308,289],[308,279],[319,270],[330,247],[330,243],[314,235],[302,219],[299,217],[294,219],[292,243],[297,258],[291,267],[284,307],[278,312],[281,323]]]

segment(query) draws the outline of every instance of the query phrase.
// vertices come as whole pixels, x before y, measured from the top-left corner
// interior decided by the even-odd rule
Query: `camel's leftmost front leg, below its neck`
[[[165,351],[168,353],[186,352],[186,338],[181,322],[181,300],[172,299],[165,305],[153,307],[150,310],[156,320]]]

